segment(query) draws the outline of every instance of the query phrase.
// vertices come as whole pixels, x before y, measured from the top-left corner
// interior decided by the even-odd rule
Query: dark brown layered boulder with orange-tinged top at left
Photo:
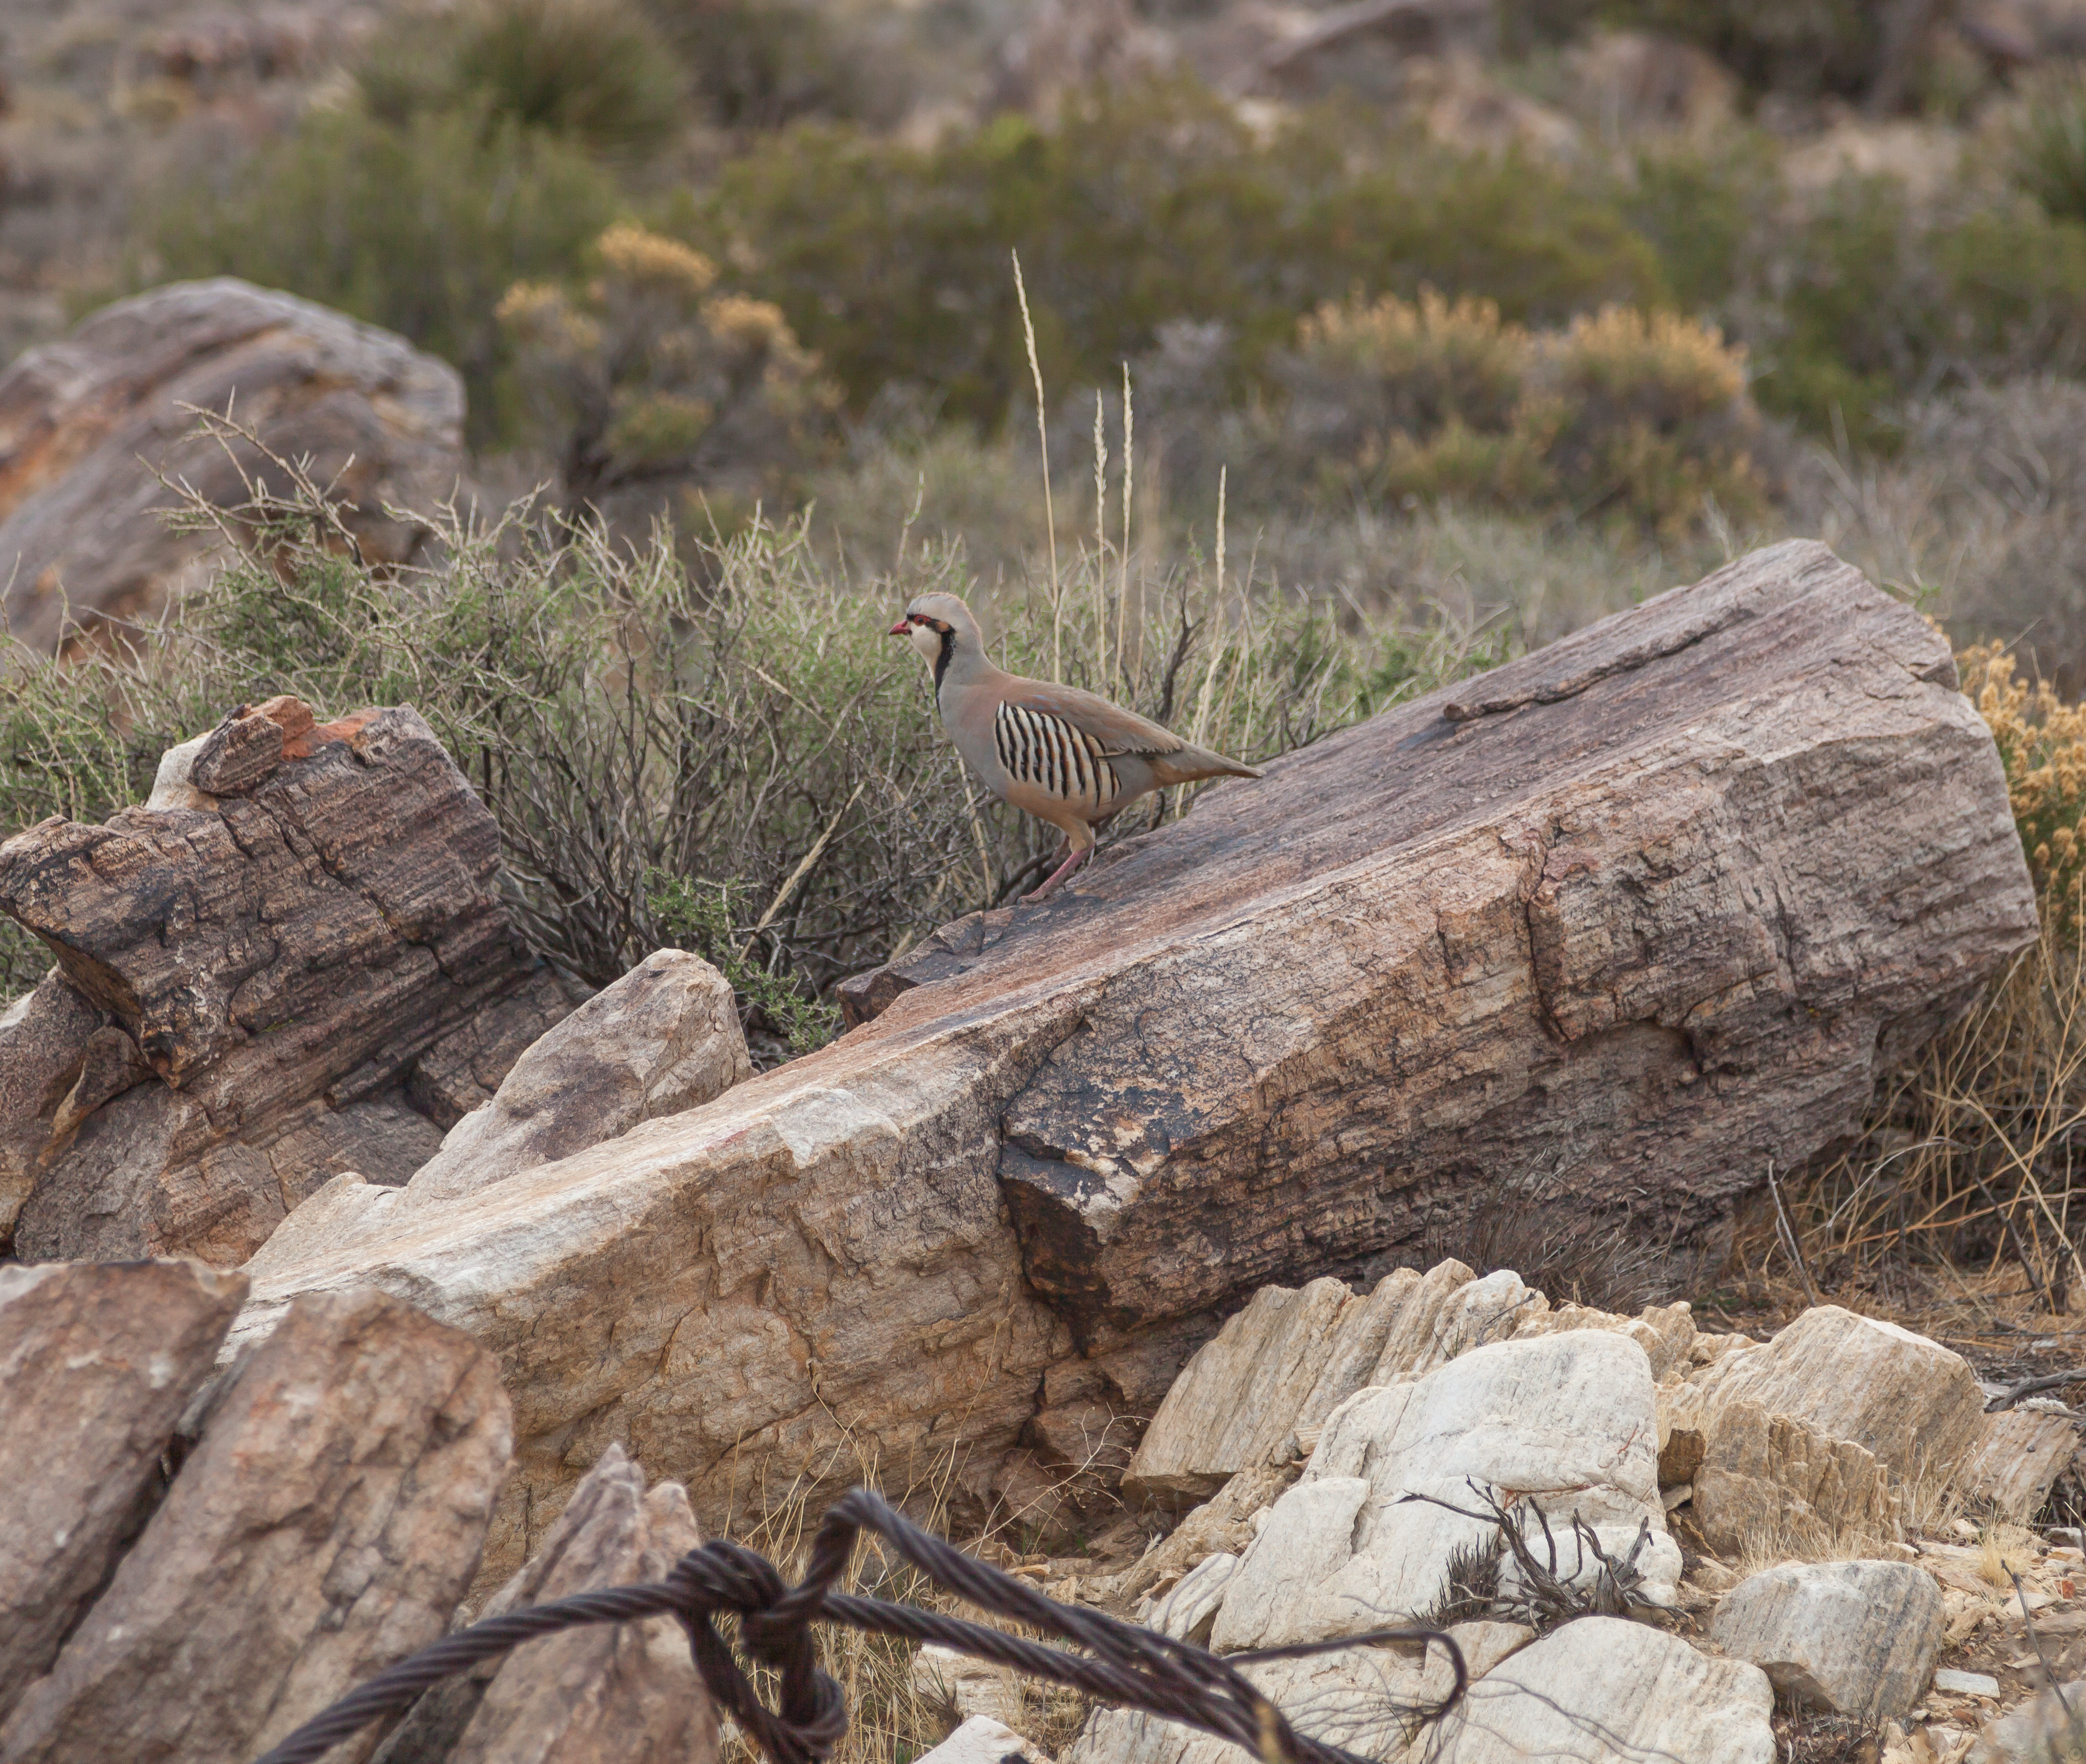
[[[501,905],[492,817],[411,709],[315,726],[269,701],[163,763],[154,799],[0,844],[0,911],[58,957],[0,1024],[0,1053],[27,1043],[0,1057],[0,1191],[8,1168],[27,1186],[0,1224],[23,1257],[240,1264],[338,1170],[403,1182],[434,1153],[419,1061],[519,1053],[574,1005]]]

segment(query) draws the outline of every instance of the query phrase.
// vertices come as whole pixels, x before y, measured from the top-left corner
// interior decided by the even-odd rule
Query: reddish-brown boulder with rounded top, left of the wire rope
[[[0,1724],[0,1760],[265,1751],[442,1635],[509,1451],[499,1366],[469,1337],[373,1291],[292,1305]]]

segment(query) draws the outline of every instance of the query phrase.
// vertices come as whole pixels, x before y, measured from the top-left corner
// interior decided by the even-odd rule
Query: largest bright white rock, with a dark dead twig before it
[[[1494,1343],[1414,1385],[1358,1391],[1325,1424],[1304,1480],[1245,1551],[1212,1628],[1218,1649],[1325,1641],[1433,1608],[1450,1558],[1491,1533],[1471,1485],[1519,1491],[1571,1526],[1648,1520],[1658,1501],[1652,1370],[1596,1330]],[[1431,1495],[1462,1508],[1450,1512]],[[1660,1553],[1656,1597],[1679,1560]]]

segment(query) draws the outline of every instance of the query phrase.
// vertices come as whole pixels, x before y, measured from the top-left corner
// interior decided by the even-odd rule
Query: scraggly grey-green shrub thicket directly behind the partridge
[[[830,1028],[818,1001],[834,982],[1033,886],[1056,840],[991,805],[943,742],[918,657],[884,634],[912,594],[972,590],[1005,665],[1062,657],[1064,678],[1245,757],[1485,655],[1450,628],[1220,588],[1202,567],[1085,559],[1058,594],[987,601],[957,555],[918,544],[853,584],[801,521],[749,523],[690,571],[668,532],[630,548],[592,525],[434,519],[440,569],[373,573],[307,484],[225,521],[259,548],[96,663],[100,696],[63,661],[17,655],[0,809],[136,801],[161,746],[271,692],[330,713],[409,703],[499,822],[513,911],[547,955],[607,984],[686,940],[734,976],[753,1028],[803,1047]],[[1185,805],[1170,792],[1124,822]]]

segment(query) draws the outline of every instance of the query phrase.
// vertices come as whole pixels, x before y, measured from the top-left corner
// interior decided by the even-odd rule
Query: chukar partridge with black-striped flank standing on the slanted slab
[[[909,638],[935,669],[935,707],[964,765],[1001,803],[1064,834],[1064,863],[1028,901],[1041,901],[1078,869],[1093,851],[1093,828],[1139,797],[1197,778],[1260,776],[1078,686],[1003,673],[987,659],[978,621],[955,594],[920,594],[891,636]]]

